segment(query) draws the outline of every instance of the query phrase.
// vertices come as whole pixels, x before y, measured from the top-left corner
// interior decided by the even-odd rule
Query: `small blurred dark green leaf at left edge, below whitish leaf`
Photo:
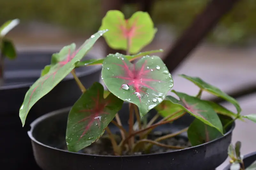
[[[5,57],[13,60],[16,58],[16,50],[11,40],[3,39],[2,53]]]

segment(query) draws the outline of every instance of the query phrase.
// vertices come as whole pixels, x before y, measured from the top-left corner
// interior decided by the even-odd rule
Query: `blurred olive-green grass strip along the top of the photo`
[[[0,23],[20,18],[63,26],[74,32],[91,34],[101,24],[101,0],[0,0]],[[156,0],[152,18],[155,24],[168,24],[179,35],[204,8],[208,0]],[[125,5],[127,17],[135,5]],[[222,45],[245,45],[256,34],[256,2],[242,0],[209,34],[207,40]]]

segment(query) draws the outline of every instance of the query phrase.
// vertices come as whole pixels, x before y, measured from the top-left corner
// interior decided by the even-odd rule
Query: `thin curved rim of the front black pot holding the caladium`
[[[188,150],[188,149],[195,149],[197,147],[200,147],[200,146],[203,146],[203,145],[207,145],[207,144],[210,144],[210,143],[213,143],[215,141],[219,141],[221,140],[223,137],[226,137],[227,135],[229,135],[230,133],[232,133],[232,131],[234,130],[236,124],[235,122],[233,122],[232,124],[232,127],[230,128],[230,130],[225,133],[222,137],[220,138],[217,138],[217,139],[214,139],[210,142],[206,142],[204,144],[201,144],[201,145],[197,145],[197,146],[192,146],[192,147],[189,147],[189,148],[185,148],[185,149],[179,149],[179,150],[175,150],[175,151],[169,151],[169,152],[162,152],[162,153],[150,153],[150,154],[144,154],[144,155],[125,155],[125,156],[115,156],[115,155],[92,155],[92,154],[85,154],[85,153],[78,153],[78,152],[70,152],[70,151],[65,151],[65,150],[62,150],[62,149],[58,149],[58,148],[54,148],[54,147],[51,147],[51,146],[48,146],[48,145],[45,145],[41,142],[39,142],[38,140],[36,140],[36,138],[34,138],[34,136],[32,135],[32,132],[35,128],[35,126],[40,123],[41,121],[49,118],[49,117],[52,117],[54,115],[58,115],[58,114],[62,114],[63,112],[69,112],[69,110],[71,109],[71,107],[66,107],[66,108],[63,108],[63,109],[60,109],[60,110],[55,110],[55,111],[52,111],[50,113],[47,113],[41,117],[38,117],[36,120],[34,120],[31,124],[30,124],[30,131],[28,131],[28,136],[31,140],[33,140],[34,142],[36,142],[37,144],[39,145],[42,145],[44,147],[47,147],[47,148],[50,148],[50,149],[54,149],[54,150],[58,150],[58,151],[62,151],[62,152],[69,152],[69,153],[74,153],[74,154],[80,154],[80,155],[88,155],[88,156],[94,156],[94,157],[122,157],[122,158],[129,158],[129,157],[142,157],[142,156],[150,156],[150,155],[158,155],[158,154],[163,154],[163,153],[170,153],[170,152],[179,152],[179,151],[183,151],[183,150]]]

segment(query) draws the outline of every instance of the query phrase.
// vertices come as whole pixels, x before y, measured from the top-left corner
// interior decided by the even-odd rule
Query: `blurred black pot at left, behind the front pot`
[[[81,96],[72,75],[68,75],[32,107],[22,127],[20,106],[29,87],[40,77],[41,70],[50,64],[52,53],[19,53],[16,60],[5,60],[5,85],[0,87],[0,165],[8,170],[20,170],[21,167],[39,169],[27,135],[29,124],[45,113],[72,106]],[[100,67],[83,67],[76,73],[85,87],[90,87],[100,80],[100,70]]]

